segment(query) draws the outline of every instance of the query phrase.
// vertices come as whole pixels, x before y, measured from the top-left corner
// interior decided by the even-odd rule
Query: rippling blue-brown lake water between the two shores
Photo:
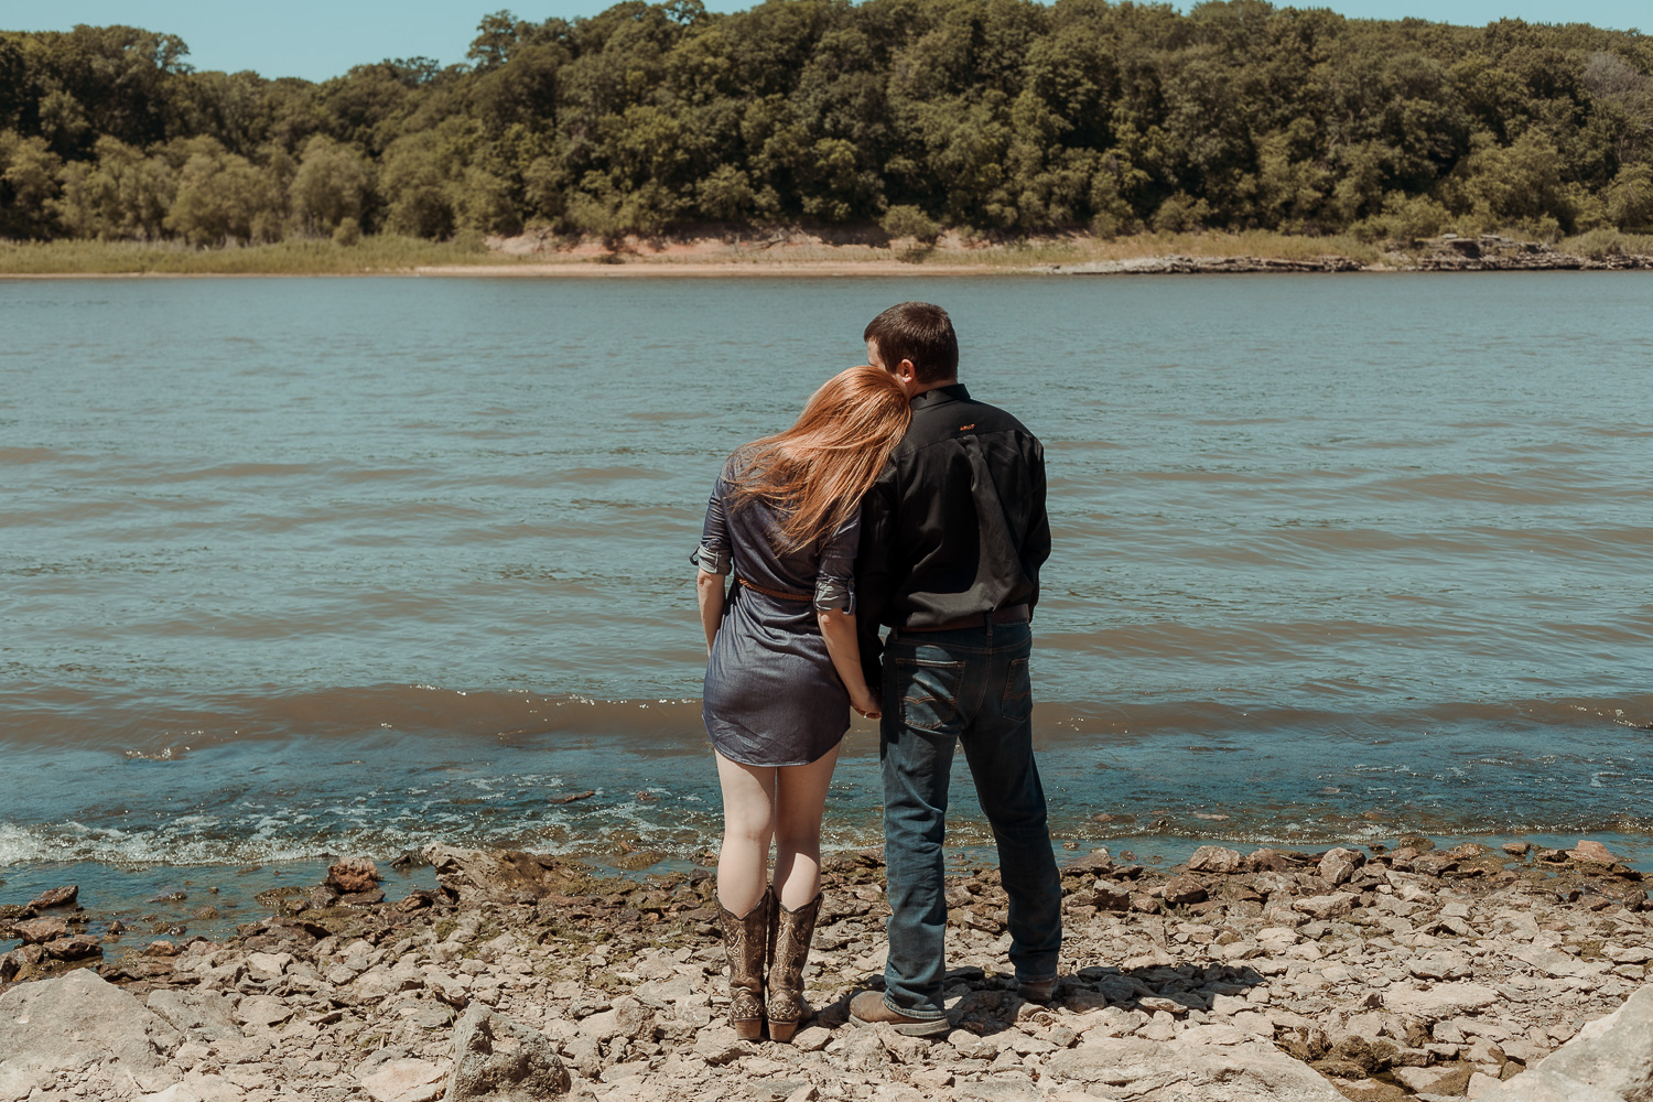
[[[0,899],[716,844],[707,491],[907,297],[1048,446],[1058,843],[1643,864],[1646,278],[0,281]]]

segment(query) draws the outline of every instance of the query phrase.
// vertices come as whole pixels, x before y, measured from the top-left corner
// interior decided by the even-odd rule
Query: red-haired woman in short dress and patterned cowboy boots
[[[861,497],[911,418],[893,375],[851,367],[790,430],[729,456],[706,509],[694,563],[724,800],[717,909],[729,1023],[746,1039],[764,1029],[765,955],[769,1036],[790,1041],[803,1016],[826,785],[850,709],[878,715],[855,636]]]

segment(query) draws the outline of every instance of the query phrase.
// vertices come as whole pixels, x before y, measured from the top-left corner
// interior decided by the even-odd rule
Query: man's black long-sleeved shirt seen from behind
[[[1038,603],[1050,558],[1045,449],[962,385],[912,400],[912,426],[861,504],[856,603],[874,684],[878,625],[934,628]]]

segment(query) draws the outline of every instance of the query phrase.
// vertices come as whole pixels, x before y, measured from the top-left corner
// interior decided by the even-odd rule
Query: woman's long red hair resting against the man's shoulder
[[[850,519],[912,421],[894,375],[851,367],[817,390],[797,423],[737,453],[736,506],[780,512],[780,550],[808,547]]]

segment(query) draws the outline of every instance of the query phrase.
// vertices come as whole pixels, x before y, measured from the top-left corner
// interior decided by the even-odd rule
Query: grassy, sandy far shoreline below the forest
[[[0,253],[0,279],[198,279],[392,276],[479,279],[615,278],[850,278],[850,276],[1132,276],[1132,274],[1392,274],[1466,271],[1653,271],[1643,238],[1625,243],[1572,240],[1560,246],[1501,235],[1417,240],[1387,251],[1349,240],[1281,235],[1177,235],[1030,240],[1012,245],[944,241],[934,248],[830,245],[793,235],[780,241],[636,240],[613,251],[590,243],[559,246],[526,235],[491,238],[486,253],[438,243],[364,243],[350,248],[299,241],[220,249],[137,243],[46,243]],[[1317,249],[1326,251],[1317,251]],[[1572,249],[1572,251],[1569,251]],[[451,259],[436,259],[436,258]],[[423,259],[423,263],[422,263]],[[5,271],[33,268],[35,271]],[[263,264],[263,266],[260,266]]]

